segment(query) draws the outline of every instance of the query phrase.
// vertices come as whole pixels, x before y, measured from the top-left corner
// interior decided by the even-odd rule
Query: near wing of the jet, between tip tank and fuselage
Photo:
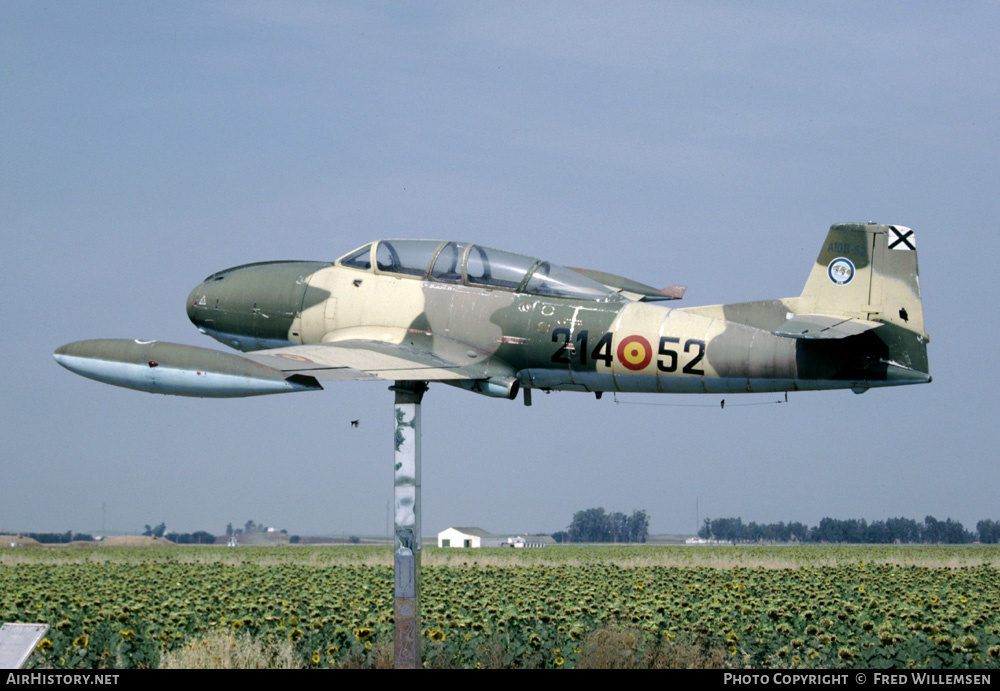
[[[510,377],[504,362],[467,345],[434,337],[431,348],[376,338],[326,340],[301,345],[243,353],[261,365],[314,377],[320,381],[372,380],[449,381]],[[329,336],[328,336],[329,338]]]

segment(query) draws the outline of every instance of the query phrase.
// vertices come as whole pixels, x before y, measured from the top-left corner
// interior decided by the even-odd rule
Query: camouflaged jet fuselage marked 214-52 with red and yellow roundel
[[[371,247],[375,257],[378,246]],[[520,286],[492,277],[495,285],[477,284],[471,254],[465,251],[460,271],[456,264],[437,278],[433,262],[419,276],[357,260],[236,267],[197,286],[188,315],[203,333],[244,352],[356,340],[442,355],[467,349],[470,361],[488,360],[484,380],[513,378],[545,390],[865,390],[928,379],[926,369],[911,376],[887,367],[889,348],[871,332],[835,342],[775,335],[798,298],[677,309],[610,290],[544,295],[523,290],[527,278]],[[753,326],[734,312],[741,307],[753,313],[742,319]],[[737,318],[727,319],[727,310]]]

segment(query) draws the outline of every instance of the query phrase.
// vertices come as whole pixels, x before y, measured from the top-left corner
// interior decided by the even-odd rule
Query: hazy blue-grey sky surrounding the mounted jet
[[[0,530],[386,531],[385,385],[195,400],[53,361],[218,345],[183,304],[214,271],[455,238],[712,304],[797,295],[826,228],[868,220],[916,231],[931,385],[724,411],[435,386],[424,532],[1000,518],[998,26],[991,2],[3,3]]]

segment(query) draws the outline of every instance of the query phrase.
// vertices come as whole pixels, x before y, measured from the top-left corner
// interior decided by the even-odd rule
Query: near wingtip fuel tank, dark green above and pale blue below
[[[71,372],[105,384],[175,396],[239,398],[323,388],[312,377],[288,376],[238,355],[163,341],[76,341],[53,356]]]

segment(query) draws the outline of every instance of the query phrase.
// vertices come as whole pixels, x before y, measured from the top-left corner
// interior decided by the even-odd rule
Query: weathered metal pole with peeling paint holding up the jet
[[[393,645],[396,669],[417,669],[420,662],[420,401],[425,382],[399,382],[393,452],[395,503],[395,605]]]

